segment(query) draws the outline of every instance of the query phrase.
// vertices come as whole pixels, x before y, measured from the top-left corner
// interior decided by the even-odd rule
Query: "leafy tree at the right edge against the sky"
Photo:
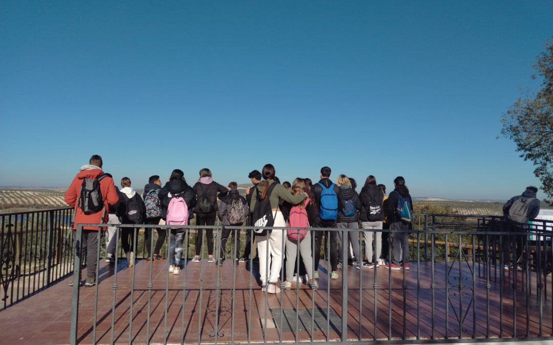
[[[532,78],[543,78],[541,89],[526,91],[503,114],[501,134],[517,144],[520,157],[534,163],[541,189],[553,199],[553,37],[533,67]]]

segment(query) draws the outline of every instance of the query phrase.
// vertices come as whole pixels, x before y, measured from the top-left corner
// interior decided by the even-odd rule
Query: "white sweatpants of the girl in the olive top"
[[[286,226],[284,217],[280,211],[273,211],[275,224],[273,226]],[[266,236],[255,236],[257,241],[257,254],[259,256],[259,275],[263,285],[276,283],[280,277],[282,267],[283,232],[286,230],[273,230]],[[285,235],[284,235],[285,236]],[[269,274],[267,274],[269,269]],[[268,275],[268,277],[267,277]]]

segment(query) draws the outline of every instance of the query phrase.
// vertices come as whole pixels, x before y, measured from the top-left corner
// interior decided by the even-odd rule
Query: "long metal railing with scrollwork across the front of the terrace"
[[[76,248],[82,226],[77,227]],[[229,227],[178,226],[183,238],[178,275],[169,272],[167,262],[139,261],[128,268],[125,259],[117,258],[114,265],[97,269],[96,284],[86,289],[80,285],[81,254],[75,251],[70,339],[73,344],[551,340],[552,226],[547,221],[520,226],[491,216],[417,215],[413,229],[378,230],[389,243],[394,235],[408,235],[408,259],[398,267],[356,269],[346,264],[347,251],[342,251],[340,278],[331,279],[331,241],[326,241],[320,251],[323,257],[329,255],[316,269],[306,268],[311,275],[317,270],[318,284],[298,282],[285,290],[283,269],[279,294],[260,286],[260,265],[265,265],[265,272],[270,269],[268,251],[259,264],[251,258],[245,266],[237,265],[236,251],[227,248],[221,257],[218,254],[222,232]],[[140,227],[153,231],[159,225],[117,227],[133,229],[137,250]],[[177,226],[163,227],[169,234]],[[268,229],[284,248],[286,229]],[[199,263],[191,261],[191,238],[205,230],[215,232],[213,254],[227,258],[222,266],[206,263],[205,257]],[[348,231],[368,231],[310,230],[311,236],[341,232],[342,238],[348,238]],[[99,240],[101,232],[95,235]],[[249,236],[251,246],[253,237]],[[363,236],[358,238],[362,248]],[[168,248],[170,243],[168,235]],[[236,247],[237,238],[229,243]],[[316,250],[312,241],[311,252]],[[203,242],[199,252],[205,253]],[[100,257],[97,251],[98,264]],[[386,259],[392,261],[391,251]],[[284,267],[284,255],[279,260]],[[296,264],[300,266],[299,247]]]

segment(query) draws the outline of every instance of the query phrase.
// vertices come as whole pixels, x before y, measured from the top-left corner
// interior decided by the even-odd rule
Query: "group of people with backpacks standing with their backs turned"
[[[312,183],[309,178],[296,178],[293,183],[280,184],[275,176],[272,164],[265,164],[262,171],[249,173],[253,184],[247,189],[246,198],[238,193],[238,185],[231,182],[227,187],[213,181],[210,169],[200,170],[199,180],[191,187],[187,184],[180,169],[171,172],[169,181],[162,187],[160,177],[152,176],[144,187],[142,197],[131,187],[131,180],[121,179],[121,189],[114,185],[113,178],[102,171],[102,158],[94,155],[89,164],[82,166],[65,193],[67,204],[75,208],[74,229],[77,224],[109,224],[107,227],[106,247],[108,263],[114,262],[116,252],[116,230],[118,224],[160,225],[155,230],[158,240],[152,245],[153,229],[145,231],[145,243],[148,261],[165,259],[160,250],[167,235],[169,238],[169,271],[179,274],[183,240],[189,221],[196,219],[195,255],[192,262],[200,262],[204,233],[207,237],[207,262],[225,261],[226,246],[232,234],[236,241],[233,259],[236,264],[249,258],[254,242],[257,247],[260,281],[263,291],[279,293],[278,280],[284,268],[284,286],[290,289],[298,277],[307,276],[306,283],[316,288],[319,278],[319,262],[323,238],[330,257],[330,279],[338,278],[338,259],[345,257],[354,268],[376,268],[385,266],[391,270],[409,269],[408,230],[413,213],[413,200],[405,179],[394,179],[394,190],[386,194],[385,185],[377,184],[374,176],[367,177],[361,192],[356,192],[356,182],[346,175],[339,175],[336,182],[331,180],[331,169],[322,167],[320,181]],[[525,192],[534,193],[529,187]],[[526,195],[524,194],[524,197]],[[504,210],[508,213],[509,200]],[[531,217],[539,211],[539,200],[532,198]],[[219,202],[218,202],[219,201]],[[510,203],[510,204],[509,204]],[[98,206],[100,205],[100,206]],[[220,253],[213,255],[213,230],[205,228],[215,225],[216,218],[221,220],[223,229],[220,236]],[[246,231],[246,247],[240,256],[239,230],[232,226],[254,227]],[[171,225],[166,233],[165,225]],[[361,225],[361,230],[359,230]],[[282,227],[285,230],[267,230],[263,227]],[[256,229],[259,227],[259,229]],[[306,230],[319,229],[341,230]],[[121,246],[127,255],[128,266],[134,263],[133,235],[135,227],[121,227]],[[382,236],[382,229],[403,230],[393,236]],[[87,278],[85,286],[93,286],[96,273],[98,250],[97,226],[84,226],[81,246],[86,251]],[[364,257],[362,261],[359,243],[359,231],[363,231]],[[347,233],[347,236],[343,236]],[[254,240],[252,240],[254,236]],[[283,236],[285,237],[283,239]],[[389,243],[392,237],[392,243]],[[283,246],[284,243],[284,246]],[[153,253],[150,252],[153,248]],[[388,252],[392,251],[391,261],[385,262]],[[301,259],[297,257],[300,254]],[[283,258],[284,256],[284,258]],[[300,262],[297,265],[296,262]]]

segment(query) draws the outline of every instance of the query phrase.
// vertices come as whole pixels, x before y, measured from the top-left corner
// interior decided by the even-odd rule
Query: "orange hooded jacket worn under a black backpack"
[[[98,167],[93,166],[83,166],[81,168],[81,172],[75,176],[73,181],[71,182],[71,185],[69,188],[67,188],[64,199],[65,202],[71,206],[72,208],[75,208],[75,205],[79,202],[78,199],[81,195],[81,185],[82,185],[82,179],[84,178],[96,178],[103,174],[102,169]],[[119,195],[117,194],[117,189],[115,188],[115,185],[113,184],[113,179],[111,177],[105,177],[100,181],[100,192],[102,193],[102,199],[104,201],[104,219],[102,221],[102,211],[86,215],[81,208],[77,207],[76,214],[75,214],[75,224],[73,225],[73,229],[77,229],[77,224],[100,224],[100,223],[107,223],[108,221],[108,205],[115,205],[117,204],[117,201],[119,200]],[[97,226],[85,226],[83,227],[84,230],[96,230],[98,231]],[[102,230],[106,230],[103,228]]]

